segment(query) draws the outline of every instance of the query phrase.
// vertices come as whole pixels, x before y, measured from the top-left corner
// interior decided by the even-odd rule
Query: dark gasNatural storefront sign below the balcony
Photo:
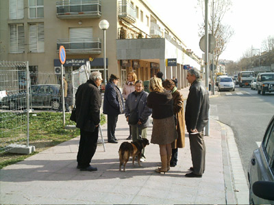
[[[65,67],[69,66],[83,66],[86,65],[86,61],[89,59],[66,59],[66,62],[64,63]],[[108,66],[108,58],[106,59],[106,66]],[[59,59],[54,59],[54,66],[61,66]],[[90,61],[90,66],[103,66],[103,58],[94,58],[92,61]]]

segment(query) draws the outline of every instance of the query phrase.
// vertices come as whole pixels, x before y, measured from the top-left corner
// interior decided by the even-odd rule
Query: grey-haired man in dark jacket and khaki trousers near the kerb
[[[186,174],[186,177],[201,177],[206,165],[206,146],[203,141],[203,128],[208,124],[210,102],[208,91],[201,85],[199,70],[188,70],[186,79],[191,84],[186,101],[185,118],[193,165],[193,167],[190,167],[192,172]]]

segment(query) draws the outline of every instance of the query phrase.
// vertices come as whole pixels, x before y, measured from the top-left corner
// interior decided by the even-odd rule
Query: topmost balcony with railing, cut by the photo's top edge
[[[100,18],[101,0],[64,0],[56,2],[56,16],[68,18]]]

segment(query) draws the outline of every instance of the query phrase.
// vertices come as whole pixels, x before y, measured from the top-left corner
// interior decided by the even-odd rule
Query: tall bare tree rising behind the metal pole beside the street
[[[214,0],[213,0],[214,1]],[[205,33],[204,23],[204,0],[198,0],[198,5],[203,11],[203,23],[199,25],[199,36],[203,36]],[[214,60],[215,64],[218,64],[219,57],[225,51],[229,40],[234,35],[234,29],[230,25],[224,25],[222,23],[223,17],[230,10],[232,6],[231,0],[218,0],[214,1],[214,12],[211,12],[211,18],[208,19],[208,26],[211,33],[213,33],[216,39],[216,47],[214,49]],[[209,6],[209,10],[212,11],[212,4]],[[212,20],[213,16],[213,20]],[[214,27],[212,27],[212,25]]]

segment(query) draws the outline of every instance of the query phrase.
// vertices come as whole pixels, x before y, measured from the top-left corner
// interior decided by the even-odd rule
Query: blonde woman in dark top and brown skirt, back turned
[[[175,120],[173,115],[173,97],[171,91],[164,90],[162,80],[153,77],[149,81],[149,96],[147,106],[152,109],[153,128],[151,143],[160,147],[162,167],[155,172],[168,172],[171,161],[171,143],[177,139]]]

